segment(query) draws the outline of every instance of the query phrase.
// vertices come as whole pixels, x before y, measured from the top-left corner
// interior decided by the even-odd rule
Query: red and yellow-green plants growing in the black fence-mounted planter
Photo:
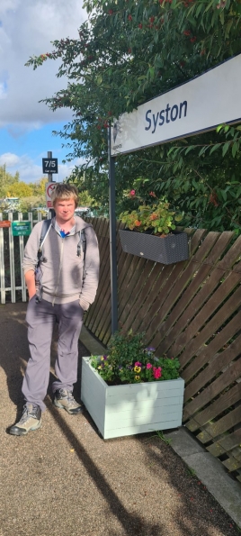
[[[149,195],[153,197],[151,204],[140,204],[136,210],[122,212],[121,222],[131,231],[151,232],[159,236],[174,231],[175,222],[180,222],[183,214],[170,210],[170,204],[165,197],[158,200],[154,192]],[[128,196],[131,199],[139,199],[135,190],[131,190]]]

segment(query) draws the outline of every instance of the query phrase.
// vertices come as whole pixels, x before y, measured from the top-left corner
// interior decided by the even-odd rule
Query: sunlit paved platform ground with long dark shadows
[[[88,413],[59,411],[49,395],[42,429],[22,438],[7,433],[23,403],[25,309],[0,305],[0,536],[240,536],[207,486],[157,436],[103,441]],[[55,352],[53,343],[52,362]]]

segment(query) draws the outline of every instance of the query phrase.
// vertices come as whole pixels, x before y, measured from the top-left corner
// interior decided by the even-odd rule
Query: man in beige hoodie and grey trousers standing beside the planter
[[[29,293],[26,321],[31,358],[22,383],[25,399],[22,418],[10,428],[25,435],[41,426],[43,399],[49,385],[50,345],[58,323],[57,379],[54,404],[74,415],[82,412],[73,393],[77,379],[78,338],[84,312],[94,302],[99,277],[99,249],[92,225],[75,216],[76,186],[58,184],[52,194],[56,217],[42,241],[43,222],[37,223],[24,250],[22,268]],[[85,244],[81,241],[85,230]],[[84,275],[85,259],[85,275]],[[38,267],[36,269],[36,267]]]

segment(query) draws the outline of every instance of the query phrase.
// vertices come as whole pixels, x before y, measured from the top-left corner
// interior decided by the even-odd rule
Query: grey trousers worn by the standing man
[[[59,388],[73,391],[77,379],[78,338],[83,324],[84,311],[78,300],[69,304],[55,304],[31,298],[26,314],[28,341],[31,357],[22,382],[22,393],[26,402],[46,409],[43,399],[49,386],[50,346],[54,324],[58,322],[58,358],[53,382],[55,392]]]

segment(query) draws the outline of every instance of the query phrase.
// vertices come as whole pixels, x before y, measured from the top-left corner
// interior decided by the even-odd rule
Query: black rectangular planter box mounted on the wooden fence
[[[122,250],[143,259],[162,264],[174,264],[189,258],[186,232],[174,232],[165,237],[146,232],[120,230]]]

